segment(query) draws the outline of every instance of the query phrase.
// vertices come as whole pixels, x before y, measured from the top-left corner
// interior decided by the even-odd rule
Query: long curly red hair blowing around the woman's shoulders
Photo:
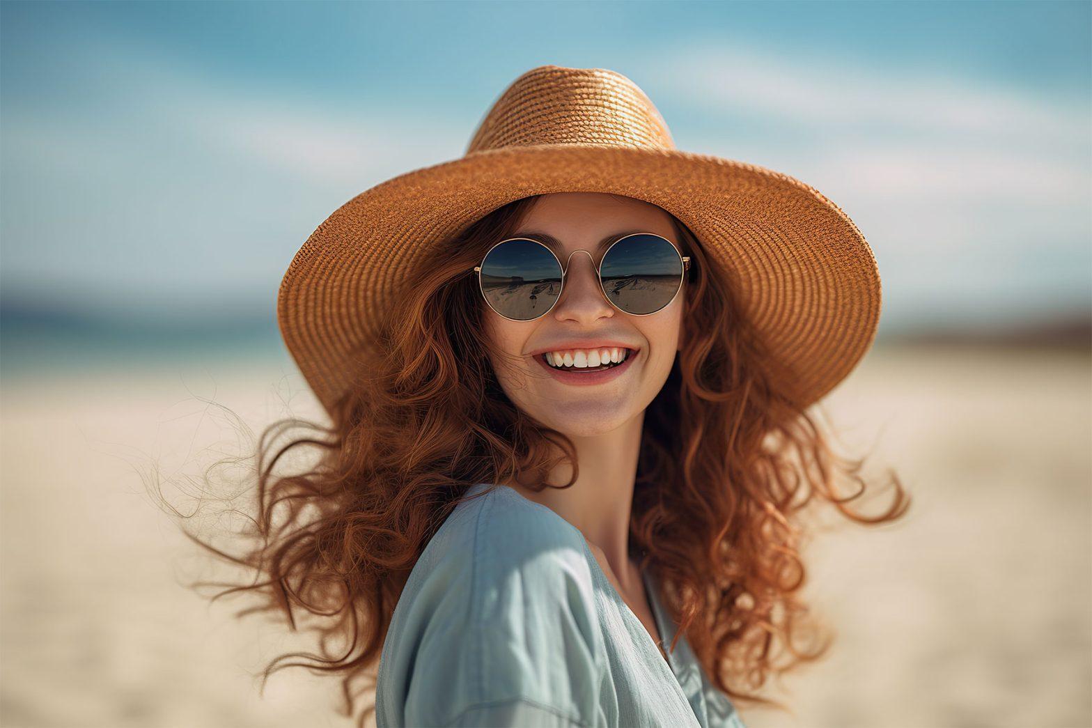
[[[484,302],[467,273],[537,199],[477,220],[406,281],[379,353],[359,357],[332,425],[286,418],[262,431],[247,456],[257,481],[253,515],[232,535],[250,541],[241,555],[183,529],[256,576],[213,600],[251,592],[261,603],[240,614],[274,612],[292,630],[302,618],[319,635],[318,654],[270,662],[262,691],[285,667],[336,673],[352,716],[355,698],[375,688],[410,572],[466,489],[517,480],[547,486],[545,474],[566,459],[566,486],[575,481],[571,441],[534,422],[500,388],[483,333]],[[892,472],[886,512],[869,517],[850,507],[866,490],[864,459],[835,455],[811,414],[778,389],[788,374],[771,363],[741,314],[733,272],[672,219],[695,265],[684,345],[644,418],[630,540],[715,685],[734,702],[784,708],[755,691],[832,644],[815,639],[829,634],[798,596],[806,506],[816,497],[858,524],[880,524],[903,515],[910,497]],[[274,473],[289,454],[305,451],[317,456],[310,466]],[[842,494],[840,482],[857,488]],[[802,633],[812,649],[797,646]],[[334,639],[343,648],[331,648]],[[373,712],[366,702],[359,725]]]

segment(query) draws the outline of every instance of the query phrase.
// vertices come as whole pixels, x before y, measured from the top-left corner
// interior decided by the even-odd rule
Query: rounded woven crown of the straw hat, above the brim
[[[608,69],[562,66],[539,66],[515,79],[466,154],[535,144],[675,149],[663,116],[636,83]]]

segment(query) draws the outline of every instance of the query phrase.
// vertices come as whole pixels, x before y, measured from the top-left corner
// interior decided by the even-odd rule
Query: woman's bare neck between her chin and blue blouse
[[[509,483],[527,500],[550,508],[575,526],[593,550],[598,549],[626,588],[633,586],[630,584],[629,518],[643,422],[644,412],[641,411],[610,432],[569,435],[580,463],[579,475],[570,488],[557,489],[572,475],[567,463],[550,472],[547,484],[551,488],[541,493]]]

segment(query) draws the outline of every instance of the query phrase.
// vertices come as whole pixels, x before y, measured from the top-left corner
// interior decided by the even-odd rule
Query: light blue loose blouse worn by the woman
[[[384,726],[744,728],[685,636],[665,661],[583,533],[478,483],[410,574],[379,661]],[[643,573],[665,649],[675,627]]]

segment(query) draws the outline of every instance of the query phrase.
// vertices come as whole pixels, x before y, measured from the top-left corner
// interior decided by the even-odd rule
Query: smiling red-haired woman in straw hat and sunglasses
[[[532,69],[462,158],[293,260],[281,330],[332,424],[263,438],[242,588],[344,637],[313,667],[349,712],[377,677],[380,726],[738,728],[733,701],[772,703],[746,689],[827,648],[797,646],[804,506],[909,503],[894,479],[853,513],[860,461],[806,411],[879,296],[812,188],[676,150],[618,73]],[[321,460],[274,475],[298,447]]]

